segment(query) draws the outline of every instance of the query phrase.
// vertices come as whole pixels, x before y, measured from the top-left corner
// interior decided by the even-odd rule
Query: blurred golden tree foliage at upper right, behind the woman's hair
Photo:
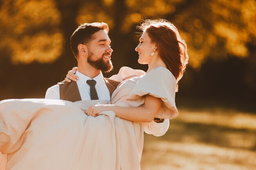
[[[194,0],[177,10],[172,18],[187,41],[191,66],[199,68],[207,57],[248,57],[247,44],[256,45],[255,9],[254,0]]]

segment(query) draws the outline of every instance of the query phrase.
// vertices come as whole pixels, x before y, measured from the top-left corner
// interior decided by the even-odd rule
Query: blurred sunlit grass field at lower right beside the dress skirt
[[[164,136],[145,135],[141,170],[256,170],[256,114],[180,109]]]

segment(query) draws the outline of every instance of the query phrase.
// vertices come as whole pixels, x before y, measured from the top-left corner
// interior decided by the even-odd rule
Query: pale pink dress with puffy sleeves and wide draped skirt
[[[129,72],[123,68],[121,72]],[[127,74],[127,73],[125,73]],[[118,78],[116,76],[115,78]],[[176,80],[166,68],[122,82],[111,104],[137,107],[144,95],[162,98],[158,118],[177,116]],[[139,170],[144,129],[104,111],[97,117],[83,109],[99,102],[50,99],[12,99],[0,102],[0,167],[4,170]]]

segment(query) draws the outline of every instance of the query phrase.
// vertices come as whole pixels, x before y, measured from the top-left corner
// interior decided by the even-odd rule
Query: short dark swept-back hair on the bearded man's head
[[[70,47],[75,57],[78,55],[79,44],[89,44],[94,39],[94,33],[103,30],[108,33],[108,24],[104,22],[93,22],[81,24],[70,37]]]

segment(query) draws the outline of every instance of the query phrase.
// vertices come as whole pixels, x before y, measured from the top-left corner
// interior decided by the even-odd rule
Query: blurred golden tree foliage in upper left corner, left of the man
[[[49,63],[62,53],[60,12],[52,0],[4,0],[0,6],[0,48],[12,63]]]

